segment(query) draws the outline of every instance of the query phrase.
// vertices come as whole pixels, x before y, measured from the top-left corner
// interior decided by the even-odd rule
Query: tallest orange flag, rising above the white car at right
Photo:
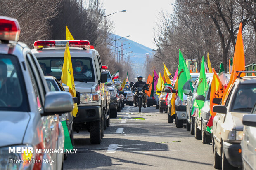
[[[245,70],[244,43],[243,43],[243,37],[242,37],[242,23],[240,23],[238,34],[237,34],[237,42],[236,42],[235,51],[234,51],[232,72],[230,75],[230,81],[228,83],[227,90],[223,95],[222,105],[225,105],[225,102],[228,98],[228,93],[230,92],[232,85],[237,79],[238,74],[240,74],[240,73],[236,73],[236,71],[243,71],[243,70]],[[243,77],[243,76],[245,76],[245,73],[242,73],[240,75],[240,77]]]

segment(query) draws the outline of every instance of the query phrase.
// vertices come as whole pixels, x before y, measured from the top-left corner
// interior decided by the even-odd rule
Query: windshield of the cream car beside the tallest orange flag
[[[256,100],[256,84],[241,84],[235,92],[232,112],[251,112]]]

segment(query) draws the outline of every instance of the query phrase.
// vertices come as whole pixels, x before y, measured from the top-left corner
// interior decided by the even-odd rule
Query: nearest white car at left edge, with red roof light
[[[36,149],[64,149],[59,114],[73,110],[72,97],[68,92],[49,92],[36,57],[26,44],[17,42],[18,21],[0,16],[0,25],[0,169],[60,170],[63,153]],[[9,153],[9,148],[30,148],[33,153]]]

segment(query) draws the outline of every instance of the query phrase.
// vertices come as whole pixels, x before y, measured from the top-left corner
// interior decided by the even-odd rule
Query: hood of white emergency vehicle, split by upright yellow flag
[[[92,91],[92,87],[94,84],[94,82],[85,83],[75,81],[76,91],[79,93],[93,93],[94,91]],[[64,87],[65,91],[69,91],[69,88],[66,86],[66,84],[62,83],[62,86]]]

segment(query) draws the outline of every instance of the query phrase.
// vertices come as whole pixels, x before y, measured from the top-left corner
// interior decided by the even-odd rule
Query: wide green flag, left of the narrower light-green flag
[[[179,50],[179,70],[178,70],[178,95],[183,101],[183,86],[191,78],[190,71],[187,68],[186,62]]]

